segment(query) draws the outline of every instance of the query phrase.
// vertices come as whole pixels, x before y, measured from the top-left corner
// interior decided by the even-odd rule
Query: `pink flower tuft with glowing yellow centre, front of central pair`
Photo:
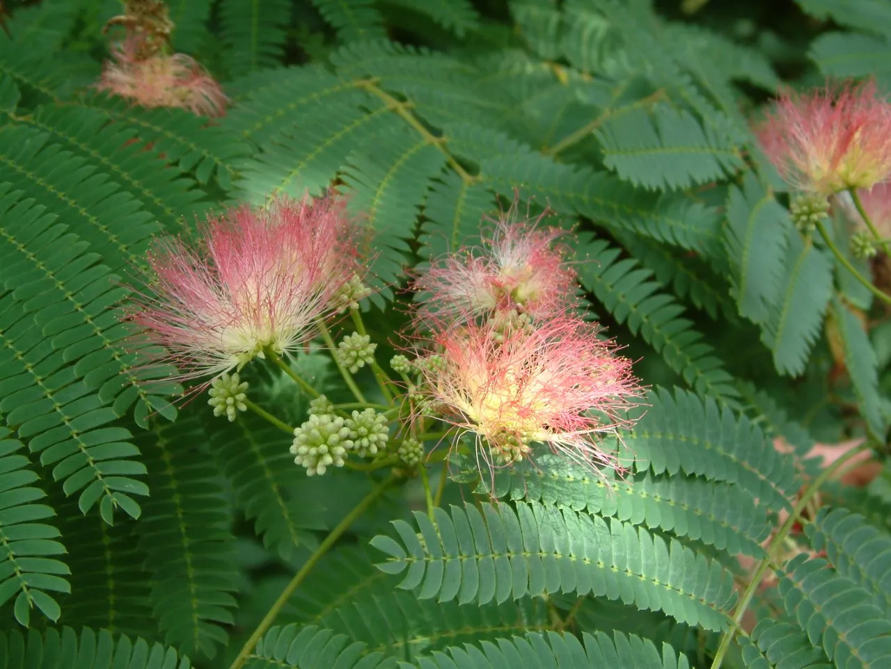
[[[620,412],[641,391],[630,360],[595,335],[595,326],[568,317],[535,329],[471,321],[432,335],[438,359],[421,365],[421,388],[443,420],[485,439],[499,462],[541,442],[577,463],[610,463],[595,435],[625,423]]]

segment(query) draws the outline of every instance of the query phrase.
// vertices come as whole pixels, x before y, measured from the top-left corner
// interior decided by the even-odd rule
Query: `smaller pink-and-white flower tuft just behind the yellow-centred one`
[[[418,319],[476,319],[516,311],[529,318],[551,318],[573,306],[576,273],[553,246],[563,230],[537,229],[516,220],[517,203],[495,222],[482,248],[449,254],[421,277]],[[544,214],[542,214],[544,216]]]

